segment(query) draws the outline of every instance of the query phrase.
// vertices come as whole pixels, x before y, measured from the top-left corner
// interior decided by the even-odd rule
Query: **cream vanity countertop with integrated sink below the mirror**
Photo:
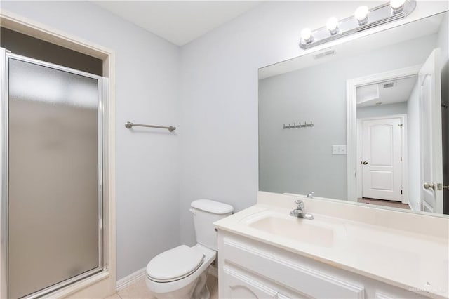
[[[447,237],[400,230],[389,225],[389,221],[379,225],[315,213],[313,208],[307,209],[307,203],[306,211],[314,215],[314,220],[294,218],[289,215],[295,206],[293,199],[290,197],[288,201],[291,201],[290,209],[286,208],[285,199],[281,207],[259,201],[255,206],[215,222],[215,227],[431,298],[449,298]],[[335,203],[327,204],[335,210]],[[326,206],[326,202],[321,201],[319,205]],[[351,208],[363,207],[354,205]],[[398,213],[398,221],[402,222],[410,221],[407,218],[413,215],[384,211],[390,217]],[[366,212],[360,211],[361,214]],[[373,213],[382,213],[382,210]],[[417,222],[420,221],[422,218],[417,218]],[[447,218],[439,221],[446,226],[449,224]],[[412,228],[415,225],[411,225]]]

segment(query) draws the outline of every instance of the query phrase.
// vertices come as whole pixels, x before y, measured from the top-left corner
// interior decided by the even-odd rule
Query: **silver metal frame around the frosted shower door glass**
[[[57,284],[53,284],[42,290],[36,291],[30,295],[27,295],[24,298],[34,299],[38,298],[42,295],[47,295],[52,293],[53,291],[58,291],[60,288],[68,286],[76,281],[80,281],[81,279],[85,279],[86,277],[90,277],[93,274],[101,272],[105,269],[105,261],[103,258],[103,178],[105,175],[104,161],[105,158],[103,155],[103,151],[105,149],[105,138],[104,138],[104,130],[105,130],[105,112],[107,111],[105,107],[106,95],[107,95],[107,78],[100,77],[98,75],[90,74],[87,72],[82,72],[76,69],[71,69],[69,67],[62,67],[60,65],[55,65],[50,62],[44,62],[41,60],[36,60],[33,58],[27,58],[22,55],[16,55],[13,53],[7,52],[4,48],[0,48],[0,85],[1,91],[3,91],[0,95],[1,98],[1,182],[0,182],[0,237],[1,237],[1,272],[0,272],[0,287],[1,293],[0,298],[8,298],[8,105],[9,105],[9,91],[8,91],[8,60],[9,58],[13,58],[15,60],[20,60],[23,62],[33,63],[35,65],[40,65],[42,67],[49,67],[51,69],[57,69],[62,72],[69,72],[71,74],[77,74],[83,77],[89,77],[98,80],[98,266],[92,270],[88,270],[87,272],[83,272],[81,274],[76,275],[75,277],[71,277],[69,279],[65,279],[60,281]]]

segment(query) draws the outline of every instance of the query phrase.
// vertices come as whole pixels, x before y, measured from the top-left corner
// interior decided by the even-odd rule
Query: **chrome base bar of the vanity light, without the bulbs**
[[[311,32],[311,35],[313,36],[312,41],[307,42],[301,39],[300,48],[308,49],[327,43],[328,41],[333,41],[334,39],[339,39],[342,36],[347,36],[349,34],[361,32],[363,30],[386,24],[394,20],[406,18],[407,15],[410,15],[410,13],[415,10],[415,7],[415,0],[406,0],[401,9],[398,9],[396,11],[391,8],[389,3],[382,4],[368,11],[368,20],[365,24],[360,25],[356,18],[354,18],[354,16],[351,16],[338,22],[337,34],[331,34],[326,27],[321,27]]]

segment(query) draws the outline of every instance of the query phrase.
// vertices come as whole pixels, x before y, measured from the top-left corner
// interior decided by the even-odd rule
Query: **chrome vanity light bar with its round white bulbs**
[[[303,29],[300,47],[303,49],[311,48],[342,36],[406,18],[415,7],[415,0],[391,0],[389,3],[371,9],[360,6],[354,11],[354,15],[349,18],[340,21],[337,18],[330,18],[326,22],[326,27],[314,31],[309,28]]]

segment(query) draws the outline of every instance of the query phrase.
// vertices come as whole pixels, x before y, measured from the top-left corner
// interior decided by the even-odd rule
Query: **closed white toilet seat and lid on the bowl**
[[[156,282],[170,282],[188,277],[203,264],[204,255],[181,245],[156,255],[147,265],[147,277]]]

